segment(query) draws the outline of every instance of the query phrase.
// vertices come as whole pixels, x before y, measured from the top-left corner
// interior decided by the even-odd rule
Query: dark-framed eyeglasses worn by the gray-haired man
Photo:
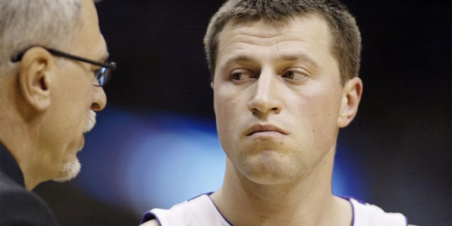
[[[30,49],[30,48],[28,48],[28,49]],[[98,83],[98,84],[93,84],[95,86],[99,86],[99,87],[104,86],[105,83],[107,83],[107,81],[109,80],[110,75],[112,74],[112,71],[114,71],[114,69],[116,69],[116,67],[117,67],[116,63],[114,63],[113,61],[102,63],[102,62],[98,62],[98,61],[92,61],[90,59],[86,59],[83,57],[77,57],[72,54],[67,54],[65,52],[58,51],[57,49],[51,49],[51,48],[47,48],[47,47],[42,47],[42,48],[46,49],[50,54],[57,56],[57,57],[66,57],[68,59],[73,59],[76,61],[82,61],[82,62],[85,62],[88,64],[93,64],[95,66],[100,66],[100,68],[97,69],[94,73],[94,76]],[[28,51],[28,49],[25,49],[25,51],[20,52],[20,54],[18,54],[16,57],[11,57],[11,61],[18,62],[18,61],[22,60],[23,55],[25,54],[25,52]]]

